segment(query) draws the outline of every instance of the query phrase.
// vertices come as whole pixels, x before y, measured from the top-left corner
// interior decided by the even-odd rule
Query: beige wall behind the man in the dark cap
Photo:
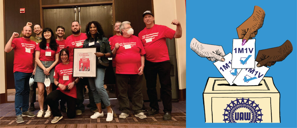
[[[166,25],[176,30],[171,21],[181,23],[182,37],[176,39],[176,58],[179,89],[186,88],[186,7],[184,0],[154,0],[155,24]]]

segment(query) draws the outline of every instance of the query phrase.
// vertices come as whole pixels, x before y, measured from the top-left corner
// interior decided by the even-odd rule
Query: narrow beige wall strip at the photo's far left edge
[[[0,0],[0,93],[5,93],[3,0]]]

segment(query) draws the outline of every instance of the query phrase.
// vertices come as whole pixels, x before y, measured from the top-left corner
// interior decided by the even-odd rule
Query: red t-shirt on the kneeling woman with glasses
[[[73,71],[73,63],[72,62],[70,62],[67,65],[65,65],[63,63],[59,63],[55,68],[54,78],[58,79],[60,84],[67,86],[69,83],[75,81],[75,78],[72,77],[72,71]],[[63,80],[63,78],[64,78],[64,80]],[[69,80],[67,80],[67,79],[69,79]],[[58,87],[57,89],[61,90],[60,87]],[[66,94],[68,96],[71,96],[73,98],[77,98],[76,97],[76,85],[74,85],[72,87],[72,89],[70,89],[70,91],[61,90],[61,92],[63,92],[64,94]]]

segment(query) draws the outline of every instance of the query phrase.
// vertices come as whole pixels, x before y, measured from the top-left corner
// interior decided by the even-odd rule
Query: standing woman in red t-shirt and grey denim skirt
[[[55,66],[59,61],[59,52],[60,49],[58,49],[58,44],[53,31],[50,28],[44,28],[42,31],[42,41],[37,44],[35,49],[36,72],[34,82],[37,82],[38,103],[40,106],[40,111],[38,111],[37,117],[42,117],[44,114],[44,89],[46,89],[47,94],[52,91],[52,83],[54,82],[53,75]],[[50,115],[51,111],[48,106],[48,110],[45,112],[44,117],[48,118]]]

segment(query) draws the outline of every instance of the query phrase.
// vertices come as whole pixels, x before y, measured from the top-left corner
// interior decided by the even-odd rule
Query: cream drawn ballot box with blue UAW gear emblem
[[[203,91],[206,123],[280,123],[279,91],[272,77],[256,86],[209,77]]]

